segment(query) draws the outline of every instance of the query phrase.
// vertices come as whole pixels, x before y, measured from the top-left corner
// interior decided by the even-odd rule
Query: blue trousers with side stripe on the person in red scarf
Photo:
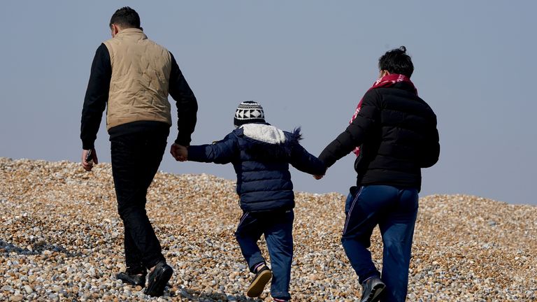
[[[381,279],[386,289],[382,301],[405,301],[418,208],[417,189],[368,185],[361,187],[354,198],[347,201],[345,210],[348,213],[341,243],[359,282],[373,276],[381,277],[368,250],[371,233],[378,224],[384,245]]]

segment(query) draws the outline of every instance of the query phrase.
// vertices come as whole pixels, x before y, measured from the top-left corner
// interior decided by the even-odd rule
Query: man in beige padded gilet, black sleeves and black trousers
[[[166,149],[171,127],[168,94],[178,113],[178,136],[171,146],[176,159],[185,157],[182,150],[196,125],[197,101],[173,55],[145,36],[135,10],[116,10],[110,31],[112,38],[96,51],[87,85],[80,128],[82,165],[91,171],[98,162],[94,141],[108,106],[106,128],[127,264],[117,278],[143,287],[149,269],[145,294],[162,296],[173,270],[145,213],[145,195]]]

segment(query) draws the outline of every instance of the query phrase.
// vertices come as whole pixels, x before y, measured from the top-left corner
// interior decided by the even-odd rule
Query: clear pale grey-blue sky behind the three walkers
[[[2,1],[0,157],[79,161],[94,52],[110,38],[110,16],[127,5],[196,94],[193,144],[223,138],[238,103],[253,99],[271,124],[301,126],[317,155],[345,129],[378,75],[378,57],[406,45],[441,135],[422,196],[537,204],[537,2],[529,0]],[[103,125],[96,148],[109,162]],[[353,161],[338,161],[320,181],[294,170],[295,188],[346,192]],[[179,164],[167,151],[161,170],[235,177],[231,165]]]

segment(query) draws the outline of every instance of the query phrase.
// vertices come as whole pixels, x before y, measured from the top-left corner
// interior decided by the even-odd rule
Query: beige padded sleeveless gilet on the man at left
[[[112,64],[106,129],[137,121],[171,125],[168,50],[134,28],[123,29],[104,45]]]

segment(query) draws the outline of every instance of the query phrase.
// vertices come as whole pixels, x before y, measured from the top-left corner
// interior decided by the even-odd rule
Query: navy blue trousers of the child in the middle
[[[271,257],[273,272],[271,296],[275,299],[289,300],[289,282],[293,261],[293,220],[292,210],[268,213],[244,213],[235,236],[241,246],[243,256],[250,271],[256,264],[264,262],[257,240],[265,235],[266,247]]]

